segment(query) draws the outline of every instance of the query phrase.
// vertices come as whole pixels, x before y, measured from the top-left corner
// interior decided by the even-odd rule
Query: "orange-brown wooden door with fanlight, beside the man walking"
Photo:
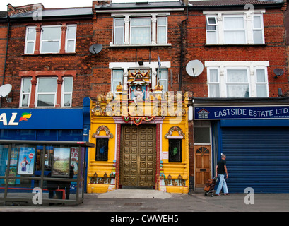
[[[196,145],[194,150],[196,188],[199,188],[204,187],[206,181],[211,179],[211,146]]]

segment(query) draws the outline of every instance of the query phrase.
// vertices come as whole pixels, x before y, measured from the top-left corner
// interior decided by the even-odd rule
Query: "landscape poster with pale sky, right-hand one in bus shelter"
[[[52,176],[69,177],[70,148],[54,148]]]

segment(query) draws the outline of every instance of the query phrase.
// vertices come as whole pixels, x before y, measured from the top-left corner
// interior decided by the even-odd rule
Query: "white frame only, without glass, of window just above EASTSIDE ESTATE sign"
[[[220,82],[220,97],[228,97],[227,95],[227,70],[228,69],[247,69],[247,79],[249,83],[249,97],[257,97],[256,85],[266,85],[266,95],[269,97],[269,81],[268,67],[269,61],[206,61],[208,79],[208,97],[210,96],[210,69],[218,69],[218,77]],[[264,69],[265,82],[258,83],[256,78],[256,70]]]

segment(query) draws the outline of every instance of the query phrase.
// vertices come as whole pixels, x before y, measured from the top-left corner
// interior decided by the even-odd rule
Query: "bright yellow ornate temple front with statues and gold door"
[[[187,94],[149,88],[147,73],[131,73],[128,90],[90,100],[88,193],[157,189],[187,193]],[[139,92],[139,93],[137,93]]]

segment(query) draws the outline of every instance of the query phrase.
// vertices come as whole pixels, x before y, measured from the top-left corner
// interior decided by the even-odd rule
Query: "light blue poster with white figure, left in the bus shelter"
[[[17,174],[33,175],[35,163],[35,148],[20,147]]]

